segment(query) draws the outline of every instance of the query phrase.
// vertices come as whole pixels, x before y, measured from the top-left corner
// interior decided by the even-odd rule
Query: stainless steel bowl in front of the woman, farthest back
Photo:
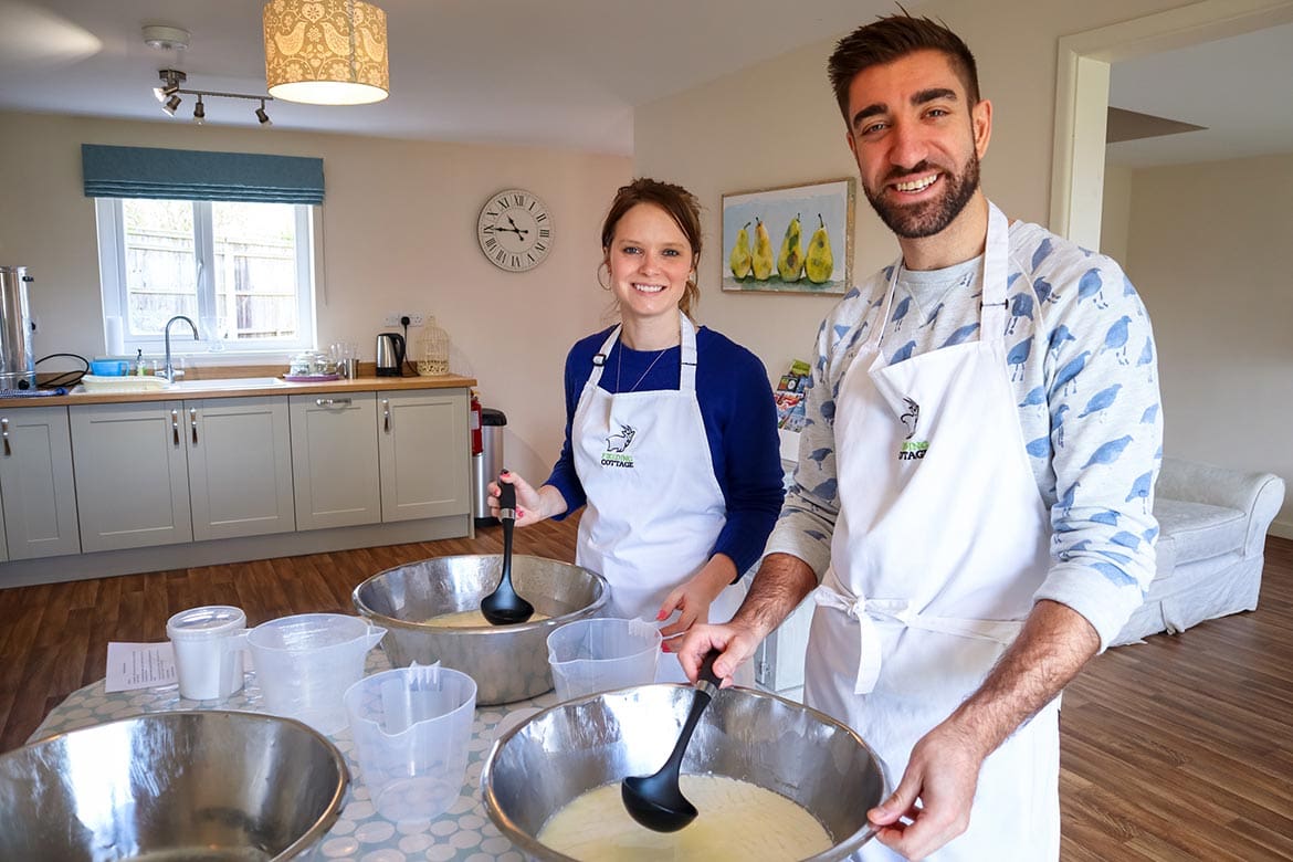
[[[552,689],[547,638],[552,629],[596,616],[610,598],[605,579],[556,560],[512,556],[512,584],[550,616],[518,625],[453,628],[442,614],[476,610],[503,575],[502,554],[434,557],[378,573],[354,588],[361,616],[387,629],[381,649],[396,667],[433,664],[476,680],[476,704],[533,698]]]

